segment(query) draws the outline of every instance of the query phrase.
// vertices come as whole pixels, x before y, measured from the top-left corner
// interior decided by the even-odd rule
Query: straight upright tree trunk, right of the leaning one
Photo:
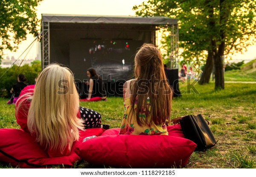
[[[224,89],[223,59],[220,55],[214,57],[215,90]]]

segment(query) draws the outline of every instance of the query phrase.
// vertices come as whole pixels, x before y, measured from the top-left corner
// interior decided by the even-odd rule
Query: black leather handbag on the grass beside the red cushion
[[[216,140],[209,128],[209,122],[201,114],[186,115],[170,120],[173,124],[180,124],[185,138],[197,144],[195,151],[204,151],[215,146]]]

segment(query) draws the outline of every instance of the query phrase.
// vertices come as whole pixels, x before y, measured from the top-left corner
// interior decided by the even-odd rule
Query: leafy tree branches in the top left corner
[[[15,51],[17,45],[31,33],[38,35],[36,7],[42,0],[0,1],[0,59],[3,50]]]

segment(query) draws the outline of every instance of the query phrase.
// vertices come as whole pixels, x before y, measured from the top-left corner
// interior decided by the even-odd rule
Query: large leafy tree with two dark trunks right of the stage
[[[209,82],[214,67],[215,89],[224,89],[224,56],[255,41],[255,9],[255,1],[245,0],[148,0],[134,6],[140,16],[178,18],[183,58],[207,60],[199,83]]]

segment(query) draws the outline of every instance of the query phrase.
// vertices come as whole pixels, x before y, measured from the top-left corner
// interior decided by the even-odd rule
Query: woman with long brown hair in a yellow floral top
[[[169,86],[160,51],[153,44],[144,44],[135,58],[135,78],[125,82],[125,113],[119,134],[168,135],[172,107]]]

